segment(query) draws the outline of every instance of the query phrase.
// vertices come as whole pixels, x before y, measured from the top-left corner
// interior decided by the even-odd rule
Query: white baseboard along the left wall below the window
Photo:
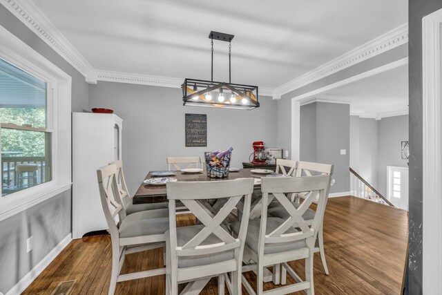
[[[55,248],[52,249],[52,251],[50,251],[45,258],[43,258],[39,263],[37,263],[37,265],[35,265],[35,267],[31,269],[30,272],[28,272],[28,274],[23,276],[23,278],[21,278],[19,283],[17,283],[14,287],[12,287],[6,293],[6,295],[21,294],[21,292],[23,292],[30,285],[30,283],[32,283],[35,280],[35,278],[37,278],[37,276],[39,276],[39,274],[41,274],[41,272],[43,272],[44,269],[46,269],[46,267],[48,267],[48,265],[52,262],[52,260],[54,260],[58,256],[58,254],[60,254],[60,252],[70,243],[71,240],[72,240],[72,233],[68,234],[68,236],[66,236],[63,240],[61,240],[61,242],[59,242],[59,244],[55,246]]]

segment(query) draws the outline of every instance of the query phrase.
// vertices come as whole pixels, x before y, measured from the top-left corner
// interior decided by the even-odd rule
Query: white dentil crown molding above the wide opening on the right
[[[402,44],[408,42],[408,23],[404,23],[385,34],[368,41],[367,43],[350,50],[349,52],[332,59],[331,61],[318,66],[314,70],[301,75],[300,77],[283,84],[275,89],[275,97],[279,99],[281,95],[294,91],[302,86],[315,82],[319,79],[323,79],[329,75],[332,75],[340,70],[358,64],[361,61],[385,53],[387,50],[391,50]]]

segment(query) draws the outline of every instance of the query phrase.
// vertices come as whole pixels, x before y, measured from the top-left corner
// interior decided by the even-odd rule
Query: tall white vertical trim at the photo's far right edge
[[[423,294],[442,294],[441,26],[442,9],[422,19]]]

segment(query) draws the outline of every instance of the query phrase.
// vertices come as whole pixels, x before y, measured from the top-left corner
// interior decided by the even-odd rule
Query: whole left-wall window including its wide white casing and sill
[[[5,190],[1,192],[3,197],[0,196],[1,221],[71,188],[72,77],[2,26],[0,59],[0,93],[3,91],[0,99],[0,140],[3,141],[0,142],[0,190]],[[21,87],[4,87],[5,76]],[[21,96],[17,96],[19,94]],[[20,144],[12,145],[14,140]],[[18,179],[15,178],[17,163],[9,164],[8,178],[4,164],[8,157],[30,157],[23,162],[17,161],[23,164],[18,169]]]

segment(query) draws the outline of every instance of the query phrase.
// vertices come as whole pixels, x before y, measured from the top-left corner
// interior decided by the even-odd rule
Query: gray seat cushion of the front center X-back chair
[[[224,225],[221,225],[227,232],[229,230]],[[177,246],[182,247],[186,245],[186,242],[189,242],[191,238],[196,236],[201,229],[204,228],[204,225],[192,225],[190,227],[177,227]],[[166,231],[164,233],[166,238],[166,242],[170,241],[170,232]],[[210,245],[218,242],[222,242],[218,236],[215,234],[211,234],[204,240],[200,245]],[[229,251],[222,251],[220,253],[215,254],[204,254],[197,256],[180,256],[178,257],[178,267],[194,267],[200,265],[210,265],[213,263],[220,263],[222,261],[227,261],[235,258],[235,250],[231,249]]]

